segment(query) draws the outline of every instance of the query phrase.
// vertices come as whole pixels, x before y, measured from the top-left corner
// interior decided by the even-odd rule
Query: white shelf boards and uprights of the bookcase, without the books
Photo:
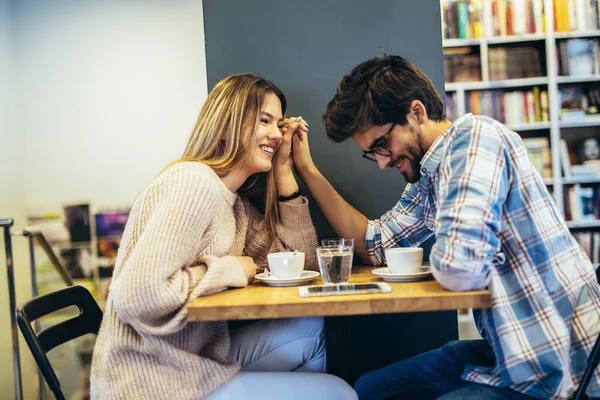
[[[569,39],[569,38],[584,38],[584,37],[600,37],[600,30],[593,31],[576,31],[568,33],[555,33],[554,32],[554,7],[552,0],[544,0],[545,10],[545,25],[547,27],[546,33],[542,34],[525,34],[518,36],[492,36],[491,32],[491,21],[492,21],[492,10],[489,6],[489,0],[483,0],[483,29],[482,33],[486,37],[479,39],[446,39],[443,41],[444,48],[450,47],[479,47],[479,54],[481,57],[481,77],[480,82],[458,82],[458,83],[447,83],[445,85],[446,92],[456,93],[456,110],[458,115],[466,113],[465,104],[465,92],[472,90],[488,90],[488,89],[502,89],[502,88],[513,88],[513,87],[529,87],[529,86],[544,86],[548,90],[549,100],[549,122],[536,122],[526,123],[521,125],[507,125],[510,129],[516,132],[524,132],[531,130],[549,130],[550,136],[550,147],[552,151],[552,178],[545,179],[544,182],[548,186],[552,186],[554,189],[554,199],[559,209],[564,215],[564,195],[563,187],[565,185],[572,185],[577,183],[600,183],[599,178],[574,178],[565,179],[562,177],[561,165],[560,165],[560,140],[561,140],[561,129],[567,128],[579,128],[579,127],[593,127],[600,126],[600,117],[587,117],[581,121],[561,121],[560,120],[560,99],[558,92],[558,85],[565,83],[585,83],[585,82],[600,82],[600,75],[587,75],[587,76],[558,76],[556,71],[557,60],[555,58],[555,48],[557,39]],[[442,16],[443,17],[443,16]],[[489,45],[502,45],[509,43],[520,43],[520,42],[545,42],[546,52],[546,73],[547,76],[539,78],[526,78],[526,79],[508,79],[502,81],[490,81],[489,79],[489,66],[488,66],[488,49]],[[581,228],[600,228],[600,221],[569,221],[567,223],[569,228],[581,229]]]

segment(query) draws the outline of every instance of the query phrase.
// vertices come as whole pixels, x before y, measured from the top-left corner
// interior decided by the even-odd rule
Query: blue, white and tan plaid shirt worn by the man
[[[433,234],[437,281],[492,295],[475,321],[496,365],[467,366],[462,378],[542,399],[571,396],[600,330],[600,288],[518,134],[491,118],[458,119],[423,157],[419,182],[369,221],[367,251],[380,265],[385,248]],[[588,394],[600,397],[598,370]]]

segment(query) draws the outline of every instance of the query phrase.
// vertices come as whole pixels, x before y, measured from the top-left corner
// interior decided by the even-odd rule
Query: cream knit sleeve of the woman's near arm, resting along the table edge
[[[171,167],[142,195],[130,232],[137,236],[135,246],[117,266],[110,288],[119,318],[141,333],[176,332],[186,324],[191,300],[247,284],[234,257],[208,256],[194,265],[202,250],[199,238],[222,201],[219,182],[207,169]]]

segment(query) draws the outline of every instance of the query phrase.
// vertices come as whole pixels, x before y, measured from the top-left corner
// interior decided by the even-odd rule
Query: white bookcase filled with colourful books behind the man
[[[600,167],[596,175],[563,172],[578,164],[578,142],[590,137],[600,141],[600,0],[441,0],[440,4],[449,117],[468,112],[488,115],[521,134],[528,149],[531,143],[538,148],[547,143],[539,164],[533,153],[530,157],[540,166],[563,215],[578,215],[571,213],[570,192],[581,186],[586,193],[593,188],[595,218],[600,218]],[[590,73],[582,73],[579,59],[571,57],[571,48],[582,43],[593,48],[587,61],[594,64]],[[537,65],[528,69],[532,63]],[[515,67],[521,69],[515,72]],[[585,115],[569,114],[572,110],[565,108],[570,91],[589,99]],[[596,93],[598,104],[592,104]],[[594,107],[596,111],[590,112]],[[565,160],[569,168],[563,167]],[[568,220],[567,226],[577,237],[590,231],[588,249],[592,243],[593,249],[600,249],[596,243],[600,219],[586,215]]]

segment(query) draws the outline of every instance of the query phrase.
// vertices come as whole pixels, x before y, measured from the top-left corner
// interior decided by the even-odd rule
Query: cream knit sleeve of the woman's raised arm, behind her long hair
[[[244,207],[249,218],[244,254],[252,257],[257,265],[267,265],[269,253],[297,250],[305,254],[306,269],[319,269],[317,234],[310,217],[308,199],[303,197],[302,204],[279,203],[280,220],[272,243],[269,241],[263,214],[247,200],[244,200]]]

